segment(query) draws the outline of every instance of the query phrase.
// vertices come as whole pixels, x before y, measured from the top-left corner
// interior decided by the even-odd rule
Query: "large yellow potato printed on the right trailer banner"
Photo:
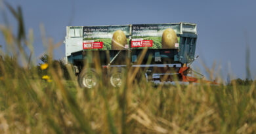
[[[162,48],[175,48],[175,43],[178,42],[175,31],[171,28],[165,29],[161,37]]]

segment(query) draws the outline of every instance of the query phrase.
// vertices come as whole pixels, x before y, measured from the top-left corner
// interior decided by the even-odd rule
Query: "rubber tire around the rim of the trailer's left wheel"
[[[86,86],[86,83],[85,83],[85,76],[87,75],[92,75],[95,77],[95,80],[96,80],[96,84],[94,86]],[[78,76],[78,79],[77,79],[78,83],[79,83],[79,86],[81,88],[95,88],[96,86],[98,86],[98,75],[96,74],[96,71],[95,69],[83,69],[83,71],[81,71],[81,73],[79,73],[79,76]]]

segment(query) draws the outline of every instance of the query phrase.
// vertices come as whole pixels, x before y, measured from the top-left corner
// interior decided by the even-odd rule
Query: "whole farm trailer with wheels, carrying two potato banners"
[[[196,24],[133,24],[103,26],[68,26],[66,28],[66,61],[73,65],[83,88],[98,84],[93,58],[102,67],[112,86],[120,86],[122,73],[129,67],[146,69],[148,80],[197,82],[188,76],[189,64],[195,59]],[[144,52],[143,58],[139,58]],[[129,61],[129,65],[127,65]],[[85,67],[85,64],[91,64]],[[167,75],[167,76],[166,76]]]

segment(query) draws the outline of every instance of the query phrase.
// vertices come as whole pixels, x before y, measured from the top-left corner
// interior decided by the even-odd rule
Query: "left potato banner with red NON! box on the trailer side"
[[[83,27],[83,49],[123,50],[129,48],[130,25]]]

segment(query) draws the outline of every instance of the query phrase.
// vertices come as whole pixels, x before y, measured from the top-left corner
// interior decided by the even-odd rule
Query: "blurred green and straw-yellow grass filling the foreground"
[[[52,81],[42,80],[33,64],[33,33],[26,38],[21,10],[9,8],[20,26],[15,36],[0,25],[13,48],[12,58],[0,59],[0,133],[256,133],[255,82],[154,86],[132,82],[128,70],[120,88],[100,82],[84,90],[71,67],[65,80],[51,58]],[[51,57],[54,44],[42,37]]]

